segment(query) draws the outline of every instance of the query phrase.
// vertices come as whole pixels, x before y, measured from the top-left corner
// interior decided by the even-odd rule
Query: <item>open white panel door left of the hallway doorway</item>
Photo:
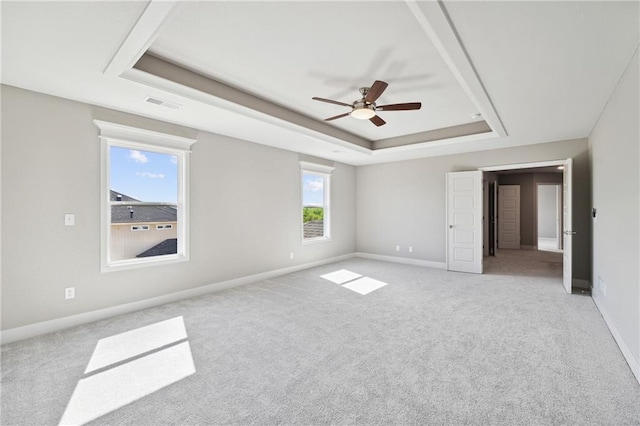
[[[482,172],[447,173],[447,269],[482,273]]]

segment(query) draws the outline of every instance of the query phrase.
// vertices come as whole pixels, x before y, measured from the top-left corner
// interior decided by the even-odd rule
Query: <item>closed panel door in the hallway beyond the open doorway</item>
[[[520,248],[520,185],[498,187],[498,248]]]

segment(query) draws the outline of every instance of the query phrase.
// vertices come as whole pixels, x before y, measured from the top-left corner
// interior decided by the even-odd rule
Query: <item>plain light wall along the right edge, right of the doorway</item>
[[[638,51],[589,136],[593,298],[640,380],[640,80]],[[606,294],[599,284],[602,278]]]

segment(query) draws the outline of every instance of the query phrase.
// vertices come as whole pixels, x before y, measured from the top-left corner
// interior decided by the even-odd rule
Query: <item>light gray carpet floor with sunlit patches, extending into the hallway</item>
[[[640,425],[561,256],[502,250],[483,275],[354,258],[6,344],[0,420]]]

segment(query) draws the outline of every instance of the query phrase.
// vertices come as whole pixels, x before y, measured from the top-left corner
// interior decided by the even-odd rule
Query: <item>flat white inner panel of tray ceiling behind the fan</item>
[[[330,122],[370,140],[469,123],[477,112],[404,2],[183,2],[149,52],[318,120],[350,109],[312,97],[350,104],[375,80],[389,83],[378,105],[422,102],[379,112],[381,127]]]

